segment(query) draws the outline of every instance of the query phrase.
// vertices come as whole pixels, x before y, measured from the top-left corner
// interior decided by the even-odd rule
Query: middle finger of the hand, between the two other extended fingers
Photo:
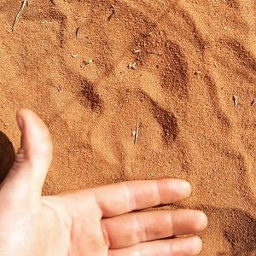
[[[206,227],[206,215],[193,210],[136,212],[102,219],[102,230],[111,249],[171,236],[190,235]]]

